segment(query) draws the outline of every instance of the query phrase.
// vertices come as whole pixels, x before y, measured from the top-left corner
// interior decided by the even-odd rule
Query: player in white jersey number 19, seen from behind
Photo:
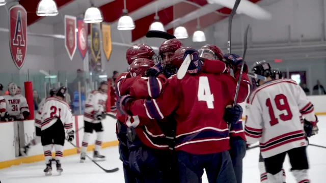
[[[314,115],[314,107],[295,81],[273,80],[268,63],[256,63],[253,72],[265,76],[266,81],[255,79],[259,86],[247,105],[247,140],[250,144],[259,140],[268,182],[283,182],[282,165],[288,154],[296,181],[307,183],[307,141],[300,116],[304,116],[305,123],[316,127],[318,119]],[[311,128],[308,133],[311,135],[317,131]]]

